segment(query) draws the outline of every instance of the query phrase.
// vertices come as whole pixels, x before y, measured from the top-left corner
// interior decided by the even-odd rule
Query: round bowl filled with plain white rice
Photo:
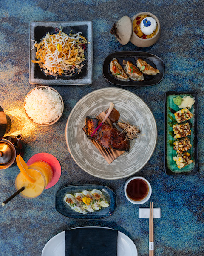
[[[38,86],[26,95],[24,110],[35,125],[48,126],[62,116],[64,102],[57,90],[49,86]]]

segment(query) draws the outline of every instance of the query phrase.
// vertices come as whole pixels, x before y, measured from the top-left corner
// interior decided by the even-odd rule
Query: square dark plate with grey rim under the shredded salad
[[[32,63],[35,60],[36,48],[34,47],[34,41],[37,43],[46,35],[47,32],[51,34],[56,33],[56,27],[62,27],[62,32],[69,35],[71,33],[82,32],[82,35],[87,39],[87,48],[85,49],[85,66],[82,68],[82,72],[75,73],[70,76],[58,76],[56,79],[54,76],[45,76],[40,70],[37,63]],[[30,67],[29,67],[29,83],[31,84],[45,84],[45,85],[83,85],[92,84],[92,67],[93,67],[93,32],[91,21],[31,21],[30,22]]]

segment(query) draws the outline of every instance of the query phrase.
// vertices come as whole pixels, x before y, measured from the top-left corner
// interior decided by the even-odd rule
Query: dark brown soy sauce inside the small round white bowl
[[[140,201],[147,196],[149,187],[146,181],[142,179],[135,179],[130,181],[127,185],[126,191],[130,199]]]

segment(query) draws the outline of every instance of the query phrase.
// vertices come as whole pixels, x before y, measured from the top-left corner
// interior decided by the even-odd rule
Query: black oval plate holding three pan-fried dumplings
[[[129,82],[119,81],[116,79],[110,71],[110,63],[116,58],[119,61],[119,64],[122,65],[122,61],[131,61],[133,65],[137,66],[135,58],[142,58],[152,67],[157,68],[160,73],[156,75],[144,75],[144,81],[133,81],[130,79]],[[148,53],[148,52],[129,52],[129,51],[121,51],[121,52],[112,52],[109,54],[104,62],[103,62],[103,76],[105,79],[111,84],[121,85],[121,86],[151,86],[158,84],[164,77],[164,61],[158,56]]]

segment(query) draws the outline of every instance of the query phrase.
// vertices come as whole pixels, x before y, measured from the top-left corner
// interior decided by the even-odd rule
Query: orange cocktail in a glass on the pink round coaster
[[[39,196],[52,179],[52,167],[45,161],[32,163],[25,169],[27,175],[20,172],[15,181],[16,189],[25,187],[20,193],[25,198],[35,198]]]

